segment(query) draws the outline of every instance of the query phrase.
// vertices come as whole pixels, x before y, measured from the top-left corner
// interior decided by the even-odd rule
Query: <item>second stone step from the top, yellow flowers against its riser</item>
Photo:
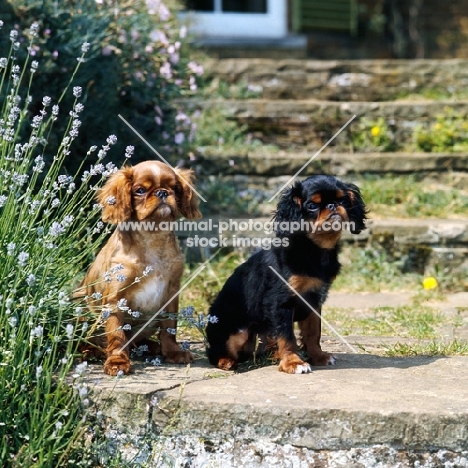
[[[447,109],[466,115],[468,101],[331,102],[321,100],[197,100],[188,108],[222,109],[229,118],[246,125],[253,138],[280,148],[320,148],[354,115],[357,117],[332,143],[341,151],[352,146],[351,132],[360,130],[359,119],[383,118],[397,148],[413,143],[418,125],[436,122]],[[374,125],[374,123],[372,125]],[[368,129],[367,131],[370,131]]]

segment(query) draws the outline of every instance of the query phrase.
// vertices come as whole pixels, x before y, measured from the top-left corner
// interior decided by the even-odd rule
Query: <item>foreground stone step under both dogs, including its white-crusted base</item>
[[[235,374],[198,359],[137,364],[119,379],[98,368],[90,380],[114,450],[122,441],[133,456],[144,456],[138,440],[153,431],[177,466],[364,466],[347,463],[355,450],[365,466],[467,466],[467,357],[337,358],[306,375],[276,365]],[[324,464],[326,451],[339,450],[343,463]],[[415,453],[431,463],[409,463]]]

